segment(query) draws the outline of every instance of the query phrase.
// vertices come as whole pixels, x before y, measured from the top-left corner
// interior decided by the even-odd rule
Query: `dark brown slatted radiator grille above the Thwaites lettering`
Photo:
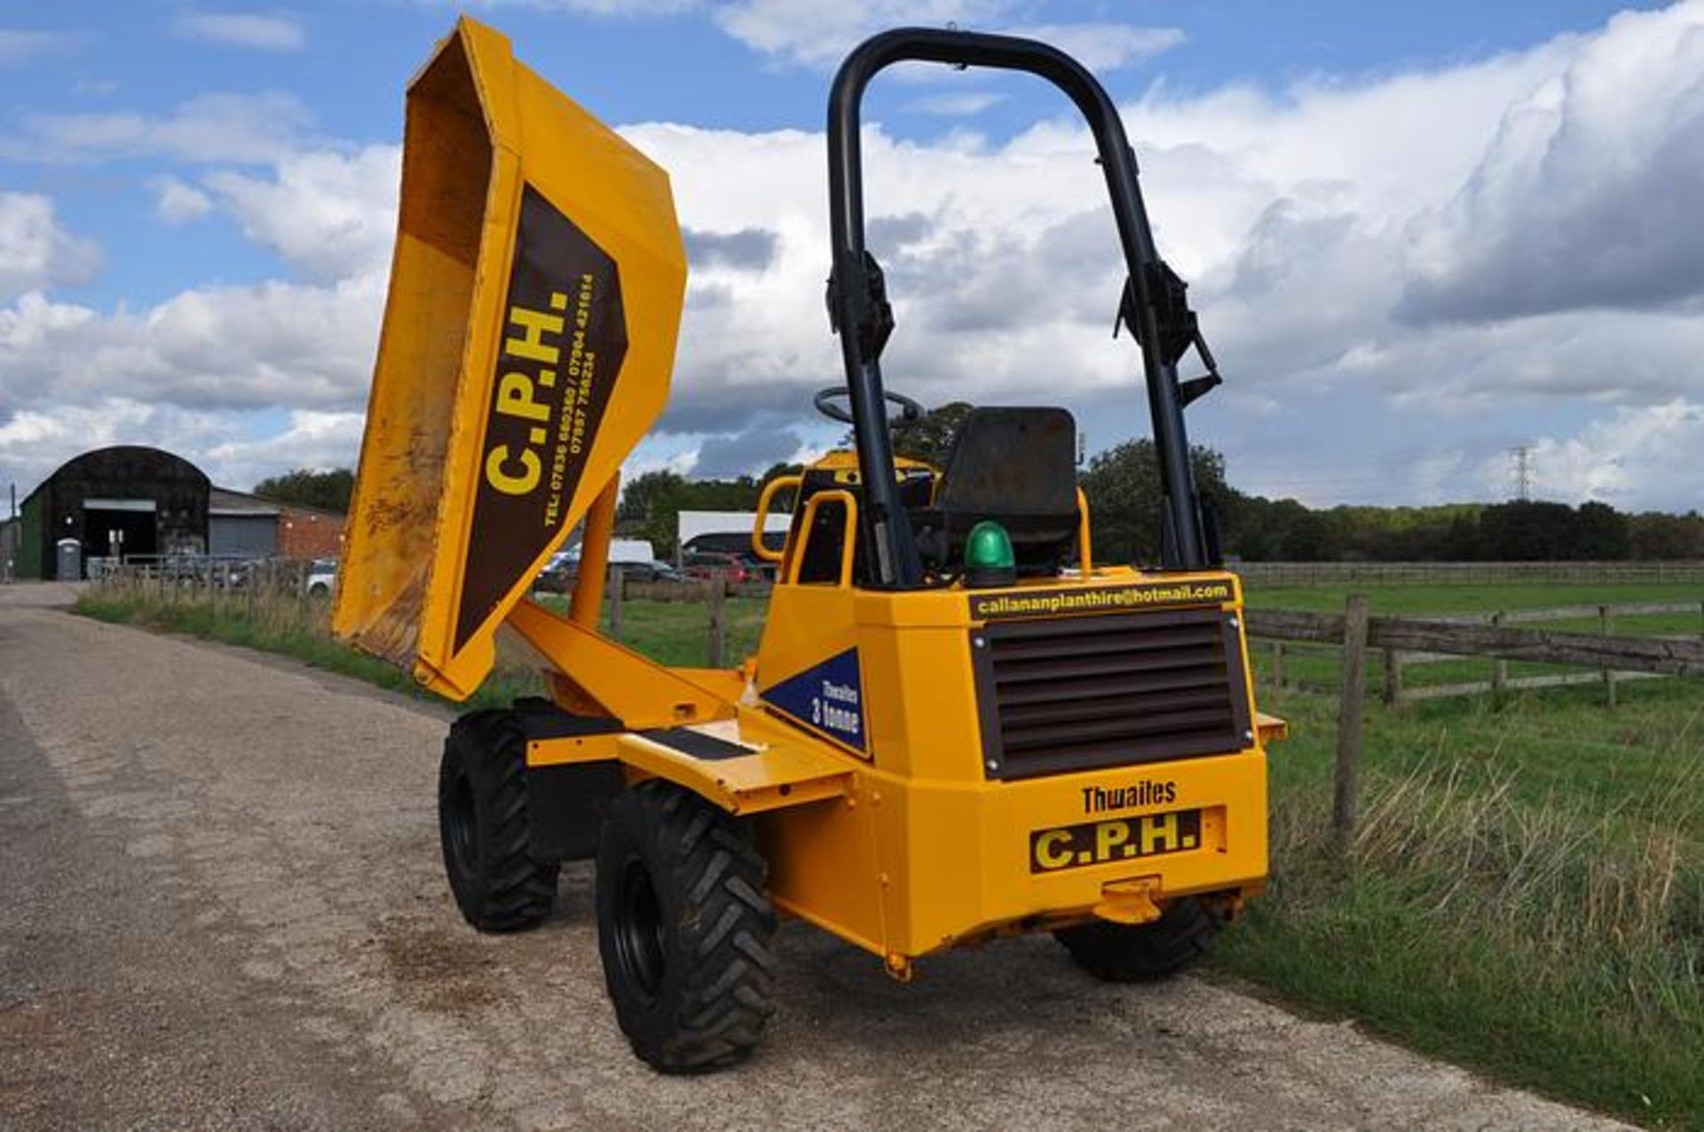
[[[971,631],[988,777],[1188,759],[1249,745],[1235,619],[1188,609]]]

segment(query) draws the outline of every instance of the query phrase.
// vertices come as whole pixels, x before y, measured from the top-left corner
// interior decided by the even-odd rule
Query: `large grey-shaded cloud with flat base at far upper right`
[[[1414,222],[1404,312],[1489,321],[1699,292],[1704,9],[1622,14],[1511,102],[1460,191]]]

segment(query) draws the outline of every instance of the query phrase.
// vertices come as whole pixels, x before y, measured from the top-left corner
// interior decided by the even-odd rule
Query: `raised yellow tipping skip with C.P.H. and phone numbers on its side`
[[[462,19],[409,85],[334,632],[465,699],[668,399],[668,174]]]

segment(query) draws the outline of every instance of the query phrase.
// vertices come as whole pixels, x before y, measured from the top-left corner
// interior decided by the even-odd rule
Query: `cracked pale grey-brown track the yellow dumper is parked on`
[[[450,904],[448,713],[0,586],[0,1129],[1609,1129],[1048,939],[910,987],[787,927],[748,1067],[663,1079],[603,997],[590,869],[537,933]],[[1329,962],[1329,956],[1321,956]]]

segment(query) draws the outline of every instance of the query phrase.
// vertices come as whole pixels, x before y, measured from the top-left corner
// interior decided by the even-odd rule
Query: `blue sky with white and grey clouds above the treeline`
[[[489,0],[661,162],[692,254],[632,469],[820,450],[828,75],[896,22],[1019,31],[1118,99],[1227,385],[1193,438],[1309,503],[1704,505],[1704,0]],[[354,462],[431,0],[0,7],[0,491],[102,443],[245,488]],[[1087,135],[1051,89],[895,68],[866,106],[889,387],[1145,431]],[[1189,375],[1186,365],[1186,377]]]

